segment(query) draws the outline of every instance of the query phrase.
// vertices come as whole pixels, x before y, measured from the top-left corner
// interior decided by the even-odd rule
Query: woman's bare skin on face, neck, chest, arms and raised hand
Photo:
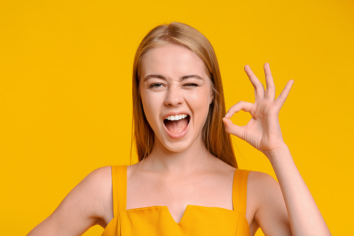
[[[250,172],[246,218],[251,235],[259,227],[265,235],[330,235],[282,139],[278,113],[293,81],[275,99],[268,63],[264,65],[266,91],[248,65],[245,71],[255,87],[255,103],[231,107],[223,118],[225,130],[264,152],[279,180],[278,184],[265,173]],[[147,158],[128,166],[127,209],[165,205],[176,222],[187,205],[232,210],[235,169],[211,155],[202,141],[213,95],[201,59],[178,45],[152,49],[143,57],[140,95],[155,142]],[[230,120],[241,110],[252,115],[243,127]],[[180,139],[173,139],[163,127],[163,118],[171,112],[191,116],[188,132]],[[111,166],[98,168],[29,235],[81,235],[95,224],[106,227],[113,219],[112,201]]]

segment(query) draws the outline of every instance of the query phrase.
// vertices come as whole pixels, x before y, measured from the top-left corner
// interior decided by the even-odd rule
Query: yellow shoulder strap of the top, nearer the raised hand
[[[250,171],[236,169],[232,185],[232,204],[234,210],[246,214],[247,180]]]

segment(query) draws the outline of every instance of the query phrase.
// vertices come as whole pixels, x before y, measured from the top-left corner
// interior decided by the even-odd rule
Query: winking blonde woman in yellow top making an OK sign
[[[152,29],[134,59],[134,138],[139,162],[92,171],[29,235],[330,235],[282,139],[278,113],[293,81],[275,99],[250,67],[255,103],[225,114],[214,49],[186,24]],[[246,126],[230,118],[243,110]],[[227,134],[229,133],[229,134]],[[266,155],[269,175],[237,168],[230,134]]]

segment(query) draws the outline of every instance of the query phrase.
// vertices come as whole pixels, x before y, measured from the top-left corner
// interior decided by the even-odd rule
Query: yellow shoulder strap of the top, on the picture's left
[[[127,207],[127,166],[112,166],[113,215]]]

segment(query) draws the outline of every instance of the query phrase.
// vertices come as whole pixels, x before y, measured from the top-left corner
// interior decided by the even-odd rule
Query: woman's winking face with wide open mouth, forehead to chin
[[[166,45],[142,58],[140,96],[155,144],[180,152],[202,143],[202,127],[213,100],[211,79],[191,50]]]

